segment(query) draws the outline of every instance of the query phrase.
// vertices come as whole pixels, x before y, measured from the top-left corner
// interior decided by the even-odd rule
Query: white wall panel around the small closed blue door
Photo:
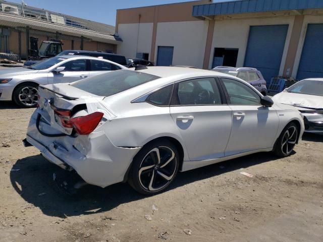
[[[155,58],[158,46],[174,46],[173,65],[203,67],[208,21],[158,23]]]

